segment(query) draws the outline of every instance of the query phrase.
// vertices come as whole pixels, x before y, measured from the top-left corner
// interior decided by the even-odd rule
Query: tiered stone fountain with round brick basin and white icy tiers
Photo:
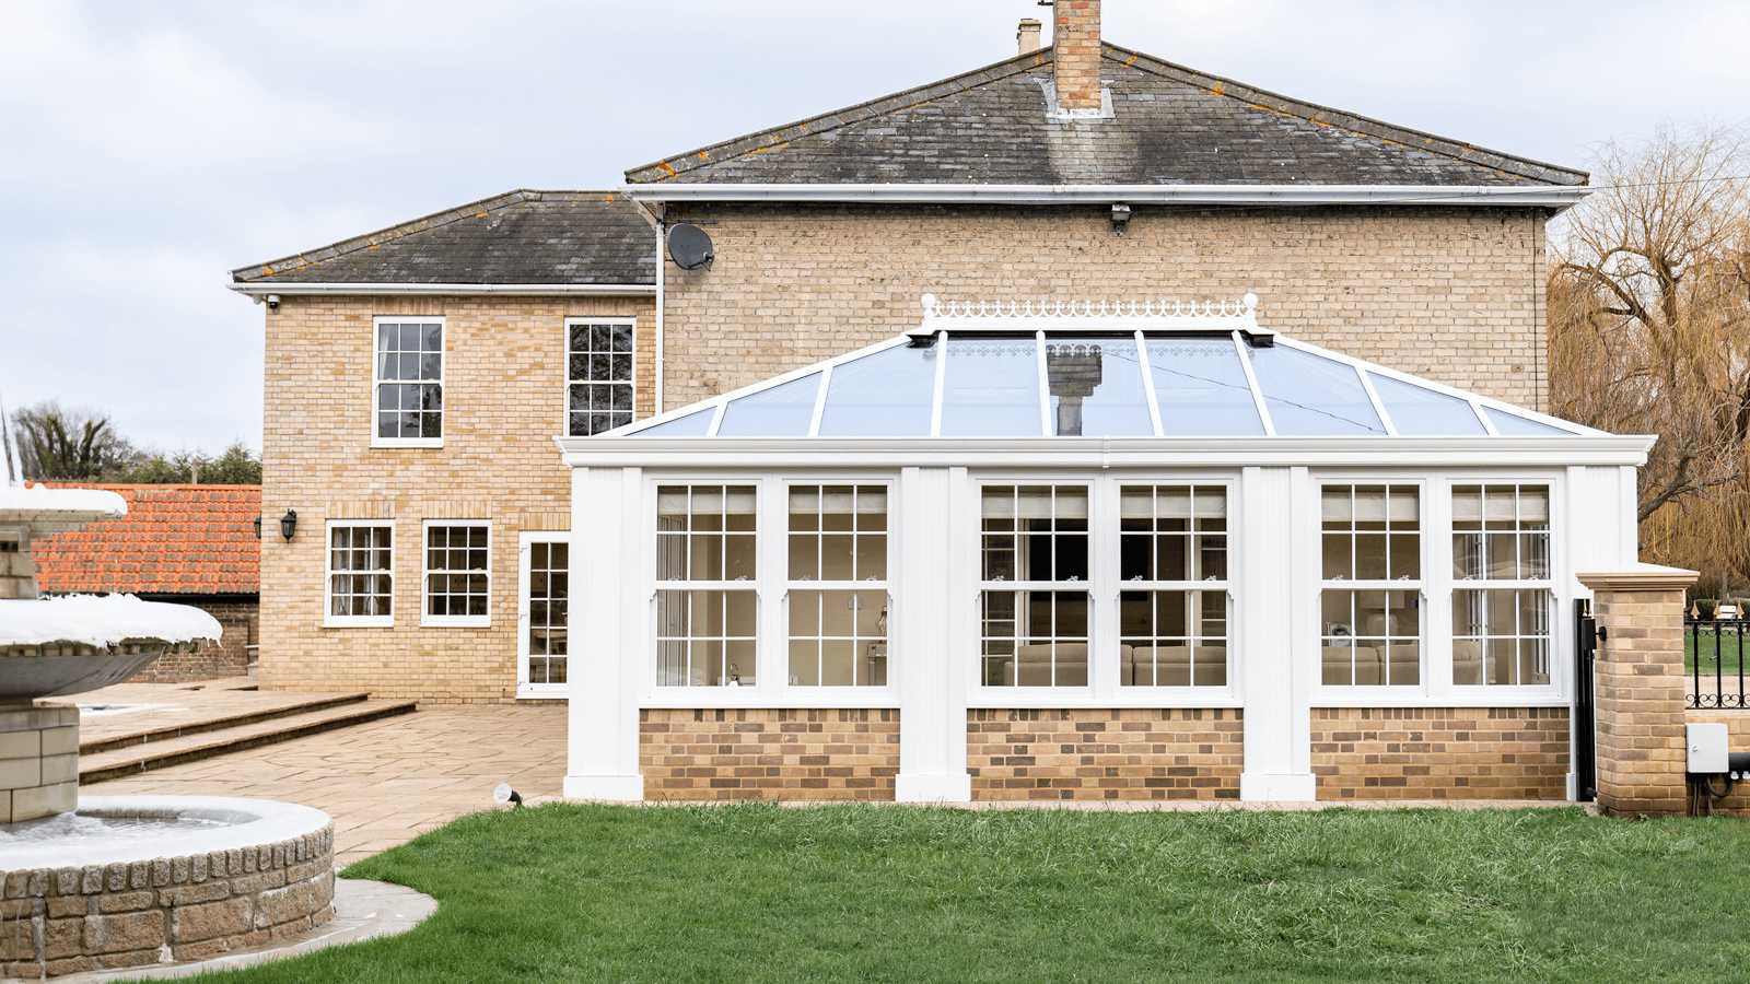
[[[37,597],[32,541],[126,511],[114,492],[0,485],[0,979],[203,959],[332,916],[322,811],[79,795],[79,707],[35,700],[121,683],[220,632],[180,604]]]

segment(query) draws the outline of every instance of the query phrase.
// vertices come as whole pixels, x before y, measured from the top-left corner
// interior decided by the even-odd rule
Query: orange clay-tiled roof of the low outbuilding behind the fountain
[[[91,485],[108,488],[128,515],[32,545],[46,592],[261,594],[259,485]],[[275,534],[278,524],[266,524]]]

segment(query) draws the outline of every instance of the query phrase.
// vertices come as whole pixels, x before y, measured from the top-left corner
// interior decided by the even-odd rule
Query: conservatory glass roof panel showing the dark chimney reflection
[[[1134,338],[1045,338],[1045,383],[1052,432],[1102,438],[1152,438],[1148,390]]]

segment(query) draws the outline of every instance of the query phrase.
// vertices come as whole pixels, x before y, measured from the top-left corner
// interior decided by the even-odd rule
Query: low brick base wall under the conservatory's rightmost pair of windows
[[[1566,707],[1314,707],[1321,800],[1564,800]]]

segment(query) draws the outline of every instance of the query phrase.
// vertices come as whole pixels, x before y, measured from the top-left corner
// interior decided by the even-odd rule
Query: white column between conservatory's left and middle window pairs
[[[900,625],[889,672],[900,686],[900,802],[966,802],[966,678],[971,653],[954,644],[976,562],[966,522],[964,467],[900,471]]]

